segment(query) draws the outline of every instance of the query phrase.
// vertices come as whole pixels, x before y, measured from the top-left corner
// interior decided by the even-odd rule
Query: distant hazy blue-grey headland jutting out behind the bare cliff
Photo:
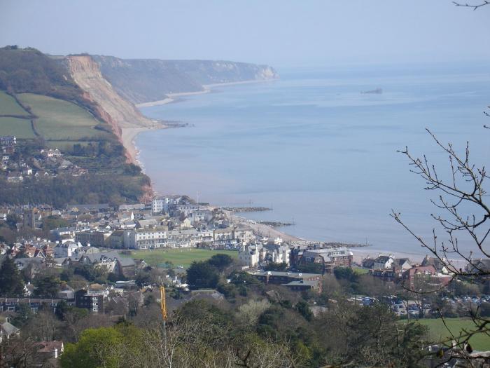
[[[278,78],[267,65],[211,60],[123,60],[93,55],[114,89],[137,104],[164,100],[167,94],[199,92],[204,85]]]

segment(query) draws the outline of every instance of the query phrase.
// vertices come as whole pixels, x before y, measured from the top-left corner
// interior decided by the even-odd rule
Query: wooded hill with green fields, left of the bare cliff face
[[[0,135],[18,138],[13,158],[29,160],[43,147],[58,148],[89,170],[83,177],[25,178],[21,184],[6,182],[0,172],[0,203],[137,201],[149,179],[126,163],[124,147],[99,111],[64,59],[32,48],[0,48]]]

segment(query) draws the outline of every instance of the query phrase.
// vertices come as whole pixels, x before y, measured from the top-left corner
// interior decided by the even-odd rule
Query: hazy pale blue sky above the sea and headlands
[[[0,45],[273,65],[490,60],[490,6],[451,0],[0,0]]]

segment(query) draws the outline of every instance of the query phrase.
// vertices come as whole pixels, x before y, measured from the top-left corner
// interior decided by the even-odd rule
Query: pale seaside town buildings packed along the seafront
[[[63,209],[44,205],[13,206],[0,208],[0,214],[4,214],[0,221],[5,221],[8,214],[18,216],[18,229],[39,229],[48,217],[62,219],[67,224],[52,229],[49,239],[31,238],[13,246],[0,245],[0,256],[17,256],[15,265],[31,278],[46,267],[87,265],[116,278],[134,280],[146,264],[123,254],[128,250],[202,247],[235,250],[237,266],[266,284],[282,285],[298,292],[318,292],[324,273],[354,265],[353,253],[346,247],[285,243],[281,238],[266,238],[255,233],[251,223],[233,222],[221,210],[195,205],[184,197],[159,197],[148,205],[139,203],[117,208],[104,203],[73,204]],[[263,271],[269,266],[286,271]],[[416,285],[421,278],[444,284],[451,276],[440,261],[430,257],[425,257],[421,264],[412,264],[407,258],[380,254],[364,259],[362,266],[368,268],[374,278],[405,285]],[[64,290],[58,299],[76,304],[78,298],[79,306],[92,312],[97,310],[97,313],[105,308],[107,292],[102,299],[98,289],[76,293]],[[19,299],[14,303],[13,299],[6,299],[0,308],[15,310],[25,302],[37,311],[45,306],[55,308],[55,301]]]

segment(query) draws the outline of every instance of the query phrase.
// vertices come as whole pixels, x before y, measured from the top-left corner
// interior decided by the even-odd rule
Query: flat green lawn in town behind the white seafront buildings
[[[135,250],[131,252],[134,259],[144,259],[150,266],[163,266],[171,261],[174,266],[188,267],[193,261],[205,261],[214,254],[229,254],[233,258],[238,257],[238,252],[232,250],[204,250],[197,248]]]

